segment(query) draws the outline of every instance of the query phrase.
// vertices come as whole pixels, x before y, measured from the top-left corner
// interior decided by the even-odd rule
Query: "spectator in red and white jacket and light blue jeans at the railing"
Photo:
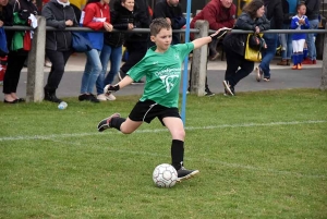
[[[105,28],[106,32],[112,31],[110,24],[110,0],[88,0],[84,8],[83,26],[99,31]],[[104,46],[104,33],[101,32],[87,32],[86,37],[92,42],[93,49],[86,53],[86,64],[82,77],[80,101],[99,102],[97,97],[93,95],[93,89],[96,81],[102,71],[100,61],[100,52]]]

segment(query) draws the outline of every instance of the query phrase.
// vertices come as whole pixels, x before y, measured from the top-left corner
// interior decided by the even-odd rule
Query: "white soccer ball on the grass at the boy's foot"
[[[171,165],[162,163],[155,168],[153,180],[158,187],[172,187],[178,180],[178,173]]]

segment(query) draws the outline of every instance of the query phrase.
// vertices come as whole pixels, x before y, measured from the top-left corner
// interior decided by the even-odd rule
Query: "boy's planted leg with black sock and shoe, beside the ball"
[[[194,177],[199,171],[186,170],[183,166],[185,131],[182,120],[180,118],[167,117],[162,119],[162,122],[168,127],[172,137],[171,165],[178,171],[178,181],[181,182]]]

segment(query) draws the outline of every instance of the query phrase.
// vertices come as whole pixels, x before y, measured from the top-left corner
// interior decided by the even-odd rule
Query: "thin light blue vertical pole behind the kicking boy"
[[[186,31],[185,31],[185,42],[190,41],[190,20],[191,20],[191,3],[192,0],[187,0],[187,8],[186,8]],[[182,121],[183,124],[185,126],[185,113],[186,113],[186,92],[187,92],[187,87],[189,87],[189,57],[185,58],[184,60],[184,72],[183,72],[183,97],[182,97],[182,112],[181,112],[181,117],[182,117]]]

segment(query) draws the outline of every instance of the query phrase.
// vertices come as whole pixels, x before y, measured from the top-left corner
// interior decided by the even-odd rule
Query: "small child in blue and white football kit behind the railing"
[[[308,20],[305,16],[306,7],[304,3],[300,3],[296,8],[298,14],[292,17],[292,29],[307,29],[310,27]],[[293,66],[292,70],[301,70],[303,61],[303,48],[305,44],[305,33],[294,33],[292,36],[293,46]]]

